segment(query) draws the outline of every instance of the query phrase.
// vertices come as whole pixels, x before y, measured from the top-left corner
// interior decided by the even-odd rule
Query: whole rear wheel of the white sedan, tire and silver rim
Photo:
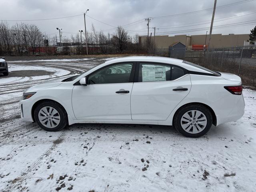
[[[208,108],[192,104],[181,108],[174,117],[174,126],[186,137],[200,137],[212,126],[212,114]]]

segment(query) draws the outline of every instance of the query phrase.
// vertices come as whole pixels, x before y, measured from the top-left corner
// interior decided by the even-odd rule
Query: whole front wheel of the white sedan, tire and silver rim
[[[36,123],[46,131],[59,131],[68,124],[68,118],[64,108],[52,101],[38,104],[34,110]]]

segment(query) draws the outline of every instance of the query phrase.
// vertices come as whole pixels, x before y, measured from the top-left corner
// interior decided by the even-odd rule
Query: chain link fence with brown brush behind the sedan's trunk
[[[180,59],[211,70],[239,75],[244,86],[256,89],[256,46],[209,48],[207,50],[186,48],[176,51],[185,52]],[[168,49],[158,49],[155,54],[159,56],[170,55]]]

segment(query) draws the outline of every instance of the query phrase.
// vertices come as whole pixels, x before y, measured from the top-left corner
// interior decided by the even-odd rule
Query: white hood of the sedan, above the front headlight
[[[56,86],[59,86],[60,84],[62,84],[63,80],[69,78],[69,77],[72,77],[71,76],[65,76],[65,77],[60,77],[60,78],[54,78],[54,79],[51,79],[51,80],[47,80],[45,82],[42,82],[40,84],[37,84],[37,85],[34,85],[30,88],[28,88],[27,90],[25,90],[26,93],[29,93],[29,92],[37,92],[38,90],[41,90],[41,89],[47,89],[47,88],[51,88],[51,87],[56,87]]]

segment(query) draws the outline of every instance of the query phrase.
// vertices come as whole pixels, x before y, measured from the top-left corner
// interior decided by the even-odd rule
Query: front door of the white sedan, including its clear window
[[[90,74],[87,86],[74,86],[72,107],[77,119],[131,120],[133,63],[106,66]]]

